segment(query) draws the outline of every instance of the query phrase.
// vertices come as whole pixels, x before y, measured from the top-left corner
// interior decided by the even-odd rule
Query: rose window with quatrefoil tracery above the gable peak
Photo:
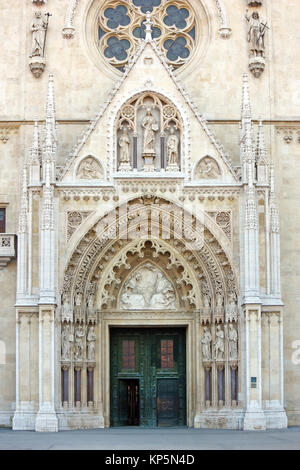
[[[120,71],[141,39],[146,13],[151,13],[152,38],[169,65],[178,68],[191,58],[195,47],[195,13],[178,0],[127,0],[105,2],[98,17],[98,46],[108,62]]]

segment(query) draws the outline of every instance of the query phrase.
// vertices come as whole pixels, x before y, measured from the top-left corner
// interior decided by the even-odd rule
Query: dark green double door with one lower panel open
[[[112,328],[111,425],[186,424],[184,328]]]

